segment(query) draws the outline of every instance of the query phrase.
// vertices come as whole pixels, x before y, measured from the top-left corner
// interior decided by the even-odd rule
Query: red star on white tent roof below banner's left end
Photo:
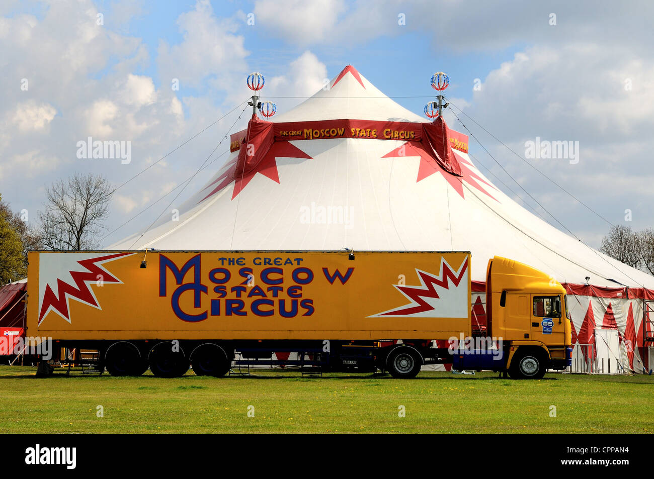
[[[279,183],[279,172],[277,171],[276,159],[277,157],[312,159],[311,156],[307,155],[297,146],[290,144],[290,142],[276,141],[273,143],[273,146],[271,146],[270,150],[268,150],[266,153],[266,156],[262,158],[258,165],[256,165],[256,167],[254,167],[251,171],[243,173],[241,177],[234,178],[237,158],[232,159],[232,161],[225,165],[226,170],[220,174],[218,178],[213,180],[213,182],[211,182],[207,188],[205,188],[205,190],[207,190],[213,186],[213,189],[209,192],[209,194],[198,201],[198,203],[201,203],[205,201],[205,199],[215,195],[218,193],[218,191],[221,191],[232,182],[235,182],[234,191],[232,193],[232,199],[234,199],[239,193],[241,193],[241,191],[243,191],[243,189],[257,173],[263,174],[274,182]]]

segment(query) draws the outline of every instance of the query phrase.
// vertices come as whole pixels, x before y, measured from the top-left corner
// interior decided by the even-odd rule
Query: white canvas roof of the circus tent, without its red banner
[[[275,122],[429,122],[392,101],[353,67],[330,87]],[[275,156],[236,195],[239,178],[230,168],[239,152],[233,152],[179,208],[179,220],[163,218],[143,237],[137,233],[108,249],[470,250],[473,280],[484,281],[488,259],[498,255],[562,283],[585,284],[589,276],[595,286],[654,288],[652,276],[585,246],[515,203],[462,151],[456,156],[463,176],[432,166],[417,180],[422,159],[415,150],[388,156],[405,140],[287,143],[291,146],[281,154],[290,157]]]

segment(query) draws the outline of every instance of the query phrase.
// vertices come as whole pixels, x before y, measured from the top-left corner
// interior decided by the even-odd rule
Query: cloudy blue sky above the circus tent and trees
[[[474,122],[453,111],[485,147],[471,138],[481,171],[598,246],[609,223],[654,226],[653,23],[648,1],[3,0],[0,193],[33,220],[54,180],[92,172],[120,186],[227,114],[118,188],[106,246],[152,222],[230,127],[245,126],[252,71],[278,112],[302,100],[273,97],[312,95],[351,64],[418,114],[444,71],[451,103]],[[129,140],[130,163],[79,159],[88,137]],[[537,137],[578,141],[578,161],[525,159]]]

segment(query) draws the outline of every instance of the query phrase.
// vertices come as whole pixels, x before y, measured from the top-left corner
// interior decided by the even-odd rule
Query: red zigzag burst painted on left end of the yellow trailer
[[[43,322],[50,308],[59,312],[63,318],[66,318],[66,320],[70,322],[71,318],[68,310],[68,299],[70,297],[76,298],[79,301],[82,301],[82,303],[86,303],[87,305],[99,308],[99,305],[95,300],[95,295],[89,289],[89,285],[86,284],[86,282],[97,282],[98,275],[103,277],[103,282],[105,283],[121,283],[121,281],[95,263],[130,254],[133,253],[116,253],[77,261],[79,265],[82,265],[88,271],[69,271],[71,278],[73,278],[75,281],[75,286],[57,279],[58,294],[55,294],[54,291],[52,291],[50,284],[46,285],[45,292],[43,294],[43,303],[41,304],[41,311],[39,312],[39,324]]]

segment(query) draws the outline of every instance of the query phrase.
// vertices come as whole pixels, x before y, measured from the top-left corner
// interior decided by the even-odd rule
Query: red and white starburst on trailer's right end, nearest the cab
[[[414,316],[425,318],[454,318],[457,315],[468,316],[468,259],[457,270],[453,269],[445,258],[441,259],[441,272],[438,276],[415,270],[421,286],[403,286],[394,284],[411,303],[370,316]],[[458,288],[464,282],[464,288]],[[461,308],[460,306],[463,305]]]

